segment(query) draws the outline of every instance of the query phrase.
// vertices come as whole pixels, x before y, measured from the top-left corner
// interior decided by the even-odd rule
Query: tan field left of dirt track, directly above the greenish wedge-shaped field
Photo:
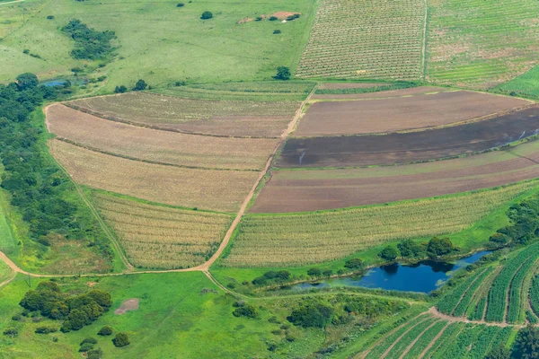
[[[58,140],[50,153],[75,182],[172,206],[237,211],[258,171],[199,170],[138,162]]]

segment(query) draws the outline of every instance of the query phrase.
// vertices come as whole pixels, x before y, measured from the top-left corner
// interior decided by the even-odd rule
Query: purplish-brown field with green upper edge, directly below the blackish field
[[[252,213],[381,204],[539,177],[539,143],[453,160],[349,170],[273,171]]]

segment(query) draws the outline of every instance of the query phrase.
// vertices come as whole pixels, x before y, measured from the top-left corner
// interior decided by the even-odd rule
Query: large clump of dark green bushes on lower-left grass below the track
[[[41,282],[35,290],[24,294],[19,303],[28,311],[39,311],[51,320],[64,320],[63,332],[78,330],[97,320],[112,305],[110,293],[99,289],[76,296],[62,293],[52,281]]]

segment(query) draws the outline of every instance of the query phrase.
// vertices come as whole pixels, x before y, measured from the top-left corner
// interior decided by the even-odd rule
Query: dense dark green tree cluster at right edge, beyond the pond
[[[526,245],[539,235],[539,197],[528,198],[508,210],[511,224],[490,236],[494,246]]]

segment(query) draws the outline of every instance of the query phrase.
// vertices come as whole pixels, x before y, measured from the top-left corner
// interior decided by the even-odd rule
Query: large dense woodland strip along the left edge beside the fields
[[[16,83],[0,84],[1,187],[9,191],[11,205],[29,224],[31,240],[49,246],[53,237],[84,239],[110,259],[110,244],[93,216],[66,200],[73,184],[47,154],[43,125],[31,115],[43,101],[56,99],[64,91],[60,88],[39,85],[35,74],[21,74]]]

